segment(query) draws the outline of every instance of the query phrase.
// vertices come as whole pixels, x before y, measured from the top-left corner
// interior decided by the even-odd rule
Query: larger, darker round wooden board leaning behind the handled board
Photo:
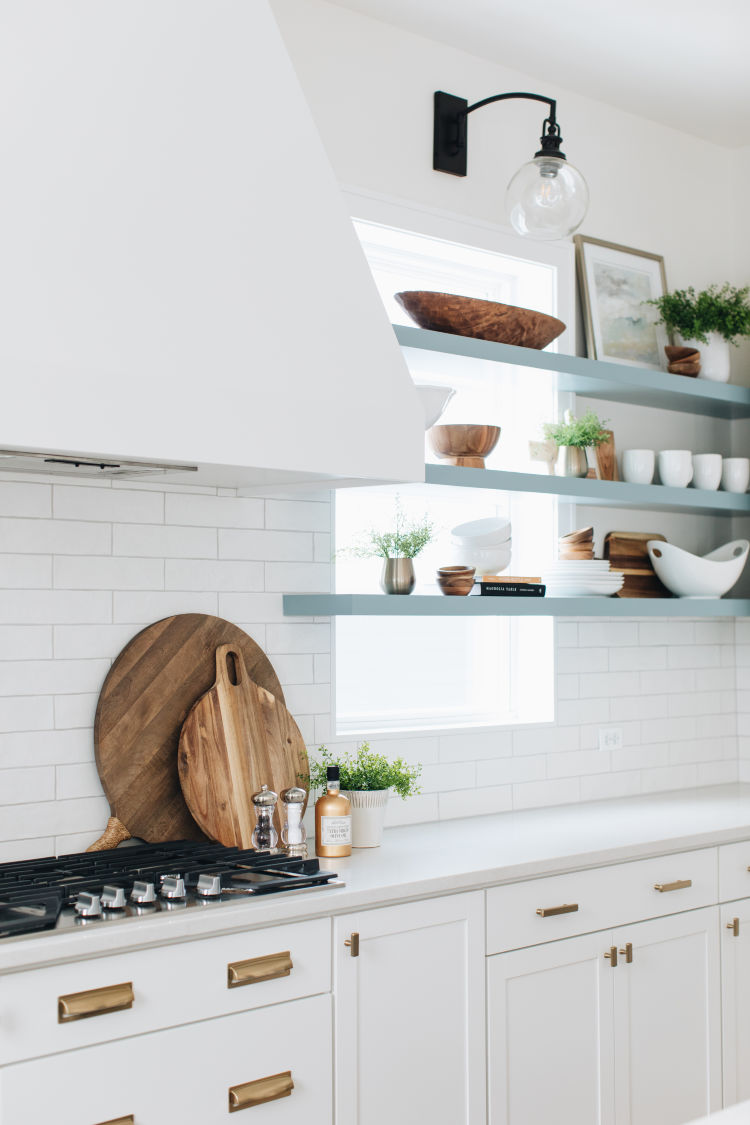
[[[180,730],[216,677],[216,649],[232,645],[251,678],[283,703],[270,660],[247,633],[222,618],[180,613],[139,632],[105,680],[93,737],[109,800],[107,831],[89,850],[129,836],[150,843],[204,839],[178,775]]]

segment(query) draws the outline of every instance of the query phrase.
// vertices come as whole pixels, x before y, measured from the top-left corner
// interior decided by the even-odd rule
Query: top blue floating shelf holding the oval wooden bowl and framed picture
[[[750,417],[750,389],[707,379],[688,379],[666,371],[651,371],[623,363],[584,359],[535,351],[513,344],[495,344],[472,336],[454,336],[448,332],[430,332],[395,324],[394,331],[403,348],[435,353],[434,364],[446,374],[454,369],[457,357],[515,367],[536,368],[558,375],[558,388],[606,398],[614,403],[633,403],[660,410],[705,414],[716,418]]]

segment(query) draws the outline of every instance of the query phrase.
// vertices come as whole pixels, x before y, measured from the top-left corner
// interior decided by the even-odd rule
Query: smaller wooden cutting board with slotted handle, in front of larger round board
[[[309,781],[297,723],[281,700],[250,678],[242,651],[233,645],[216,650],[216,683],[186,719],[178,764],[196,822],[228,847],[252,847],[252,796],[261,785],[281,793]],[[281,834],[278,803],[274,824]]]

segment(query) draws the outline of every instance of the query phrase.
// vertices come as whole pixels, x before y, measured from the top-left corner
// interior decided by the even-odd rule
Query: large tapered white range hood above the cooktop
[[[3,4],[0,106],[2,450],[240,486],[422,477],[419,403],[266,0]]]

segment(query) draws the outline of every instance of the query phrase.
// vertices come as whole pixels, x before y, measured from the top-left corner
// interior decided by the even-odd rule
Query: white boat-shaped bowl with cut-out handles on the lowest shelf
[[[677,597],[721,597],[742,574],[750,542],[734,539],[704,556],[658,539],[650,539],[647,547],[657,576]]]

